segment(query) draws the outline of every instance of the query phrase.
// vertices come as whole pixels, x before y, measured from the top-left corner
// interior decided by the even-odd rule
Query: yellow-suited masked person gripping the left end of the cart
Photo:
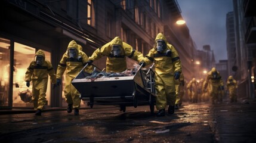
[[[87,64],[88,56],[83,51],[79,50],[79,46],[76,41],[70,41],[67,46],[67,51],[63,54],[60,63],[57,67],[57,85],[61,85],[61,77],[66,70],[66,82],[64,88],[65,100],[67,102],[67,113],[71,113],[74,109],[74,114],[79,114],[79,108],[81,100],[79,98],[80,93],[72,85],[72,80],[78,75],[78,73]],[[85,68],[88,73],[92,72],[92,67]]]

